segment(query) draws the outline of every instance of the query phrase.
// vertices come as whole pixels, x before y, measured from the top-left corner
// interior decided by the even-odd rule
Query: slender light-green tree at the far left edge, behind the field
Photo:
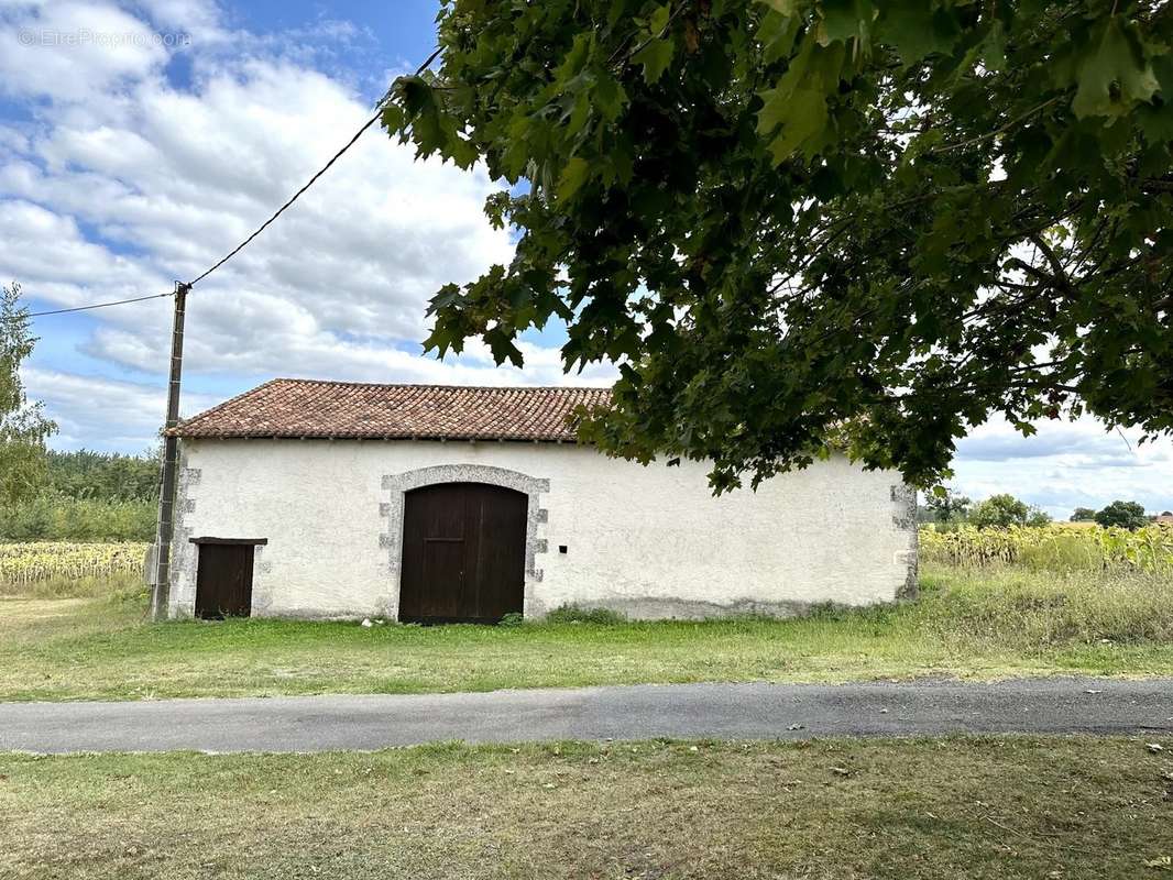
[[[36,492],[45,474],[45,440],[56,431],[43,405],[29,402],[20,380],[20,365],[34,345],[20,285],[0,287],[0,501],[8,505]]]

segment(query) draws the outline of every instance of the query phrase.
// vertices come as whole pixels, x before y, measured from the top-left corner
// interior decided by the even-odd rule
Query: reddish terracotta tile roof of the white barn
[[[606,388],[486,388],[273,379],[179,422],[189,438],[372,438],[575,441],[579,404]]]

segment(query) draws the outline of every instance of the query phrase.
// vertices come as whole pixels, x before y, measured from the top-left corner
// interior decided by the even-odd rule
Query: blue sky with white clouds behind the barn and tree
[[[218,259],[296,190],[434,45],[438,5],[13,0],[0,4],[0,278],[34,310],[162,292]],[[191,296],[183,409],[273,375],[450,384],[564,377],[561,332],[527,367],[483,346],[421,354],[428,297],[511,252],[481,170],[416,163],[369,131],[319,185]],[[140,451],[163,411],[169,300],[42,318],[25,370],[54,445]],[[1066,515],[1137,499],[1173,508],[1173,445],[1093,421],[962,441],[956,487]]]

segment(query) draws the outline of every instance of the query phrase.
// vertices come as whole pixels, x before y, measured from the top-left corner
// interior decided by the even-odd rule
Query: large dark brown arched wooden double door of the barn
[[[527,505],[521,492],[476,482],[408,492],[399,620],[495,623],[521,614]]]

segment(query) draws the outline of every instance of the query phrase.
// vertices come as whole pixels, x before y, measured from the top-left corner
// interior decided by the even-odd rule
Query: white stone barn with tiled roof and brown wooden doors
[[[597,388],[277,379],[175,429],[172,617],[792,615],[916,585],[915,494],[845,458],[714,497],[579,445]]]

